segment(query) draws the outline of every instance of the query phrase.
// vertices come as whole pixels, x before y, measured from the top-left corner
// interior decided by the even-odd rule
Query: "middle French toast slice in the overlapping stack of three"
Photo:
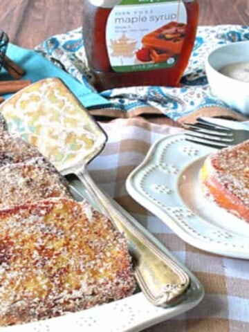
[[[0,167],[0,210],[50,197],[71,199],[64,177],[45,158]]]

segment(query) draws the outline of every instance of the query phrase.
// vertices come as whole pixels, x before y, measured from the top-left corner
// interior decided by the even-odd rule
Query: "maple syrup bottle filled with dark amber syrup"
[[[95,88],[178,86],[198,16],[196,0],[84,0],[84,46]]]

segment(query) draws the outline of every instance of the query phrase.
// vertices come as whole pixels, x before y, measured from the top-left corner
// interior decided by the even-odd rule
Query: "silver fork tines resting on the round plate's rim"
[[[183,124],[185,139],[189,142],[222,149],[230,145],[237,145],[249,139],[249,130],[232,129],[220,124],[212,124],[202,118],[196,119],[195,124]]]

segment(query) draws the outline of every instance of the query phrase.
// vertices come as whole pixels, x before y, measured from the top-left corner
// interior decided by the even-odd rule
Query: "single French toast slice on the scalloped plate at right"
[[[249,222],[249,140],[210,154],[199,179],[206,196]]]

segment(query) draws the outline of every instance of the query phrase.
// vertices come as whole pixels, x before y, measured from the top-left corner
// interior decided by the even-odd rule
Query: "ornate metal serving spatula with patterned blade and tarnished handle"
[[[3,102],[0,111],[12,135],[35,144],[65,176],[75,174],[99,210],[124,232],[136,280],[147,299],[157,306],[181,301],[189,275],[89,176],[87,165],[102,151],[107,136],[71,91],[58,79],[42,80]]]

